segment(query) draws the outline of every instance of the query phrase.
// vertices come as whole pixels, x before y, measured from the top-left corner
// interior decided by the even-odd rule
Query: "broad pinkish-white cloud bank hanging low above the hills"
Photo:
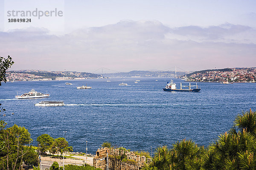
[[[13,57],[12,69],[252,67],[256,63],[255,34],[254,28],[228,23],[207,28],[169,28],[159,21],[122,20],[64,36],[51,35],[44,28],[0,32],[0,51],[1,56]]]

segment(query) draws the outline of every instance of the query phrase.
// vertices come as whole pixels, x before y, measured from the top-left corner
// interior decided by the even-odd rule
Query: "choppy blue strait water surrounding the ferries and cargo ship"
[[[136,79],[140,79],[137,84]],[[199,93],[163,91],[169,80],[68,81],[73,85],[65,85],[67,81],[2,83],[0,103],[6,109],[6,116],[0,112],[0,119],[8,127],[14,124],[26,127],[33,145],[43,133],[58,138],[64,137],[63,131],[67,131],[67,141],[74,151],[85,153],[85,141],[88,141],[88,153],[95,154],[105,141],[117,147],[150,151],[151,147],[171,147],[177,140],[186,138],[207,147],[233,126],[237,114],[250,108],[256,111],[256,83],[198,83]],[[180,81],[174,79],[177,88]],[[119,86],[121,82],[130,86]],[[92,89],[76,89],[86,83]],[[17,92],[23,94],[32,88],[42,93],[48,91],[50,97],[14,99]],[[65,106],[34,106],[47,100],[63,100]]]

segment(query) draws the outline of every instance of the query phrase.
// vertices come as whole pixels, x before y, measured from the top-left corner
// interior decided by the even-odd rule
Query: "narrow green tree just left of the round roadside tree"
[[[54,139],[48,134],[42,134],[41,136],[38,136],[36,141],[38,144],[40,144],[40,152],[43,154],[46,153],[46,151],[50,149],[53,140]]]

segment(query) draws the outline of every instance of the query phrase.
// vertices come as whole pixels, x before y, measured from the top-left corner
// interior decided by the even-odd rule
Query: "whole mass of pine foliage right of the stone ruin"
[[[256,112],[236,116],[234,127],[209,147],[183,139],[158,147],[145,170],[256,170]]]

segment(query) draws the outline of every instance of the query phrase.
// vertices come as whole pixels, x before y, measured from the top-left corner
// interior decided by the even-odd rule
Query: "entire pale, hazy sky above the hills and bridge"
[[[0,56],[15,61],[9,70],[256,67],[255,7],[255,0],[0,0]],[[8,15],[36,10],[56,12]],[[15,18],[32,21],[8,23]]]

